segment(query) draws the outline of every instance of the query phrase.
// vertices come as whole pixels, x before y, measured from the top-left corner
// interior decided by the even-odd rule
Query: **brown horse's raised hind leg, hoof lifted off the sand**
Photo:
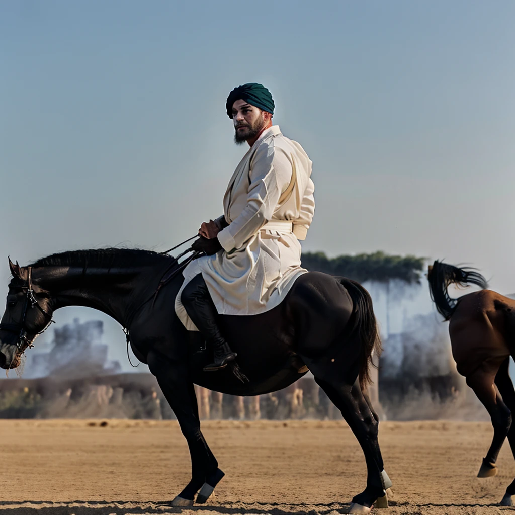
[[[497,474],[495,462],[511,426],[511,412],[494,385],[500,365],[499,361],[484,361],[479,368],[466,377],[467,384],[487,409],[493,426],[492,444],[483,459],[483,464],[477,474],[478,477]]]

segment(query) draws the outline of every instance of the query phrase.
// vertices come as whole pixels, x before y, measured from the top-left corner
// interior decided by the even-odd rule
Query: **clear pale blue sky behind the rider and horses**
[[[0,3],[0,283],[8,254],[164,249],[221,214],[244,151],[225,99],[259,81],[314,163],[304,250],[515,292],[514,23],[502,0]]]

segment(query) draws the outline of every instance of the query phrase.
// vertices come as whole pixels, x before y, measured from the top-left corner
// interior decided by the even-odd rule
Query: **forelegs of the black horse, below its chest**
[[[147,356],[150,371],[156,376],[163,394],[174,411],[186,438],[192,460],[192,479],[175,497],[174,506],[191,506],[195,494],[198,503],[208,500],[224,473],[200,431],[197,398],[186,367],[163,354],[151,351]]]

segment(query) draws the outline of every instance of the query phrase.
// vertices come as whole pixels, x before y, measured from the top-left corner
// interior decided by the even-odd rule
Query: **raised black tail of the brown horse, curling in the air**
[[[487,280],[473,268],[459,268],[448,265],[441,261],[435,261],[428,267],[427,280],[429,281],[429,291],[431,299],[436,305],[436,309],[445,320],[449,320],[458,305],[459,299],[451,299],[447,288],[451,284],[460,287],[476,284],[483,289],[488,288]]]

